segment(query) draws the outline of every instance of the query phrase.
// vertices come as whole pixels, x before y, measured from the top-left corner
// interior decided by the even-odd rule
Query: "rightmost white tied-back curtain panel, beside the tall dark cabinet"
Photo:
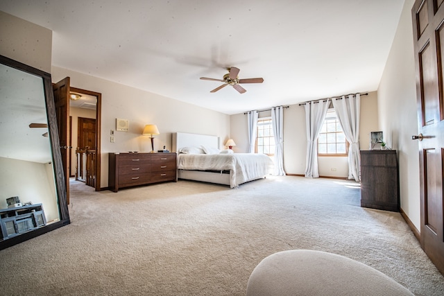
[[[359,155],[361,95],[333,98],[332,102],[345,138],[350,143],[348,149],[348,179],[355,179],[356,182],[359,182],[359,169],[361,168],[361,157]]]

